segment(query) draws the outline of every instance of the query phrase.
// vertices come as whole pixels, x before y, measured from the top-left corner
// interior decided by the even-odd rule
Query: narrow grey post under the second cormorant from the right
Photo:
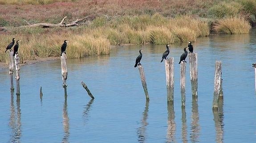
[[[180,63],[180,93],[181,93],[181,105],[185,106],[186,101],[186,90],[185,90],[185,83],[186,83],[186,63]]]

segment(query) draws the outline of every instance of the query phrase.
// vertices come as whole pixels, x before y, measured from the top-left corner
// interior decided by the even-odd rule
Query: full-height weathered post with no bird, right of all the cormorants
[[[213,109],[218,109],[220,82],[221,82],[221,61],[216,61],[215,76],[214,76],[214,95],[213,95],[213,102],[212,102]]]

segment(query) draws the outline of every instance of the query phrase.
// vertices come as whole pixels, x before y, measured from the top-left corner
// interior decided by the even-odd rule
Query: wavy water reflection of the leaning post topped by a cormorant
[[[145,143],[146,141],[146,126],[147,126],[147,116],[148,116],[149,100],[146,100],[145,110],[142,113],[141,127],[137,128],[138,142]]]

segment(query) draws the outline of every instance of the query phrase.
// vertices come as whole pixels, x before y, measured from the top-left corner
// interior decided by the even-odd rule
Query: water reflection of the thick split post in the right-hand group
[[[167,120],[167,142],[175,142],[175,112],[173,102],[167,102],[168,120]]]

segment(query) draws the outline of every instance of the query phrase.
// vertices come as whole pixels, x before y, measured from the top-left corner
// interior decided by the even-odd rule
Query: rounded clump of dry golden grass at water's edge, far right
[[[225,34],[248,34],[251,26],[243,17],[228,17],[217,21],[215,31]]]

